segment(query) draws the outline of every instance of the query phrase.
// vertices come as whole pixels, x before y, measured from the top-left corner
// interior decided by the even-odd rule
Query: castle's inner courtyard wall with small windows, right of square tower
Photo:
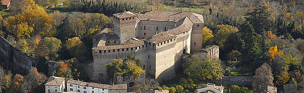
[[[143,39],[155,35],[159,32],[165,32],[174,28],[175,22],[160,22],[160,21],[140,21],[136,28],[136,38]],[[146,26],[146,29],[145,29]],[[158,31],[156,30],[158,27]]]

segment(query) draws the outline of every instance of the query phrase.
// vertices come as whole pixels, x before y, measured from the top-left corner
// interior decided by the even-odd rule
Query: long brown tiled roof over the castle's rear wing
[[[135,13],[140,20],[177,22],[188,16],[194,24],[204,24],[203,15],[191,12],[146,11]]]

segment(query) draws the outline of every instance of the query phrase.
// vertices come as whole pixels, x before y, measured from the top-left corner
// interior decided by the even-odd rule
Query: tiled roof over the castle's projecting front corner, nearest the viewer
[[[154,43],[154,44],[158,44],[160,42],[164,42],[164,41],[173,39],[175,37],[176,36],[170,35],[167,32],[161,32],[159,34],[156,34],[156,35],[153,35],[153,36],[151,36],[149,38],[146,38],[145,41],[146,42],[151,42],[151,43]]]

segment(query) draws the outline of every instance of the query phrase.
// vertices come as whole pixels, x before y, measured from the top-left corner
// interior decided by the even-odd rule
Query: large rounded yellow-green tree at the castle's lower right
[[[204,56],[191,56],[184,73],[195,82],[201,82],[206,79],[219,80],[224,76],[221,61]]]

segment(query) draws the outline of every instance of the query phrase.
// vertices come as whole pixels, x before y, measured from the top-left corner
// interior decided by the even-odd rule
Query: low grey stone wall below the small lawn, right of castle
[[[245,76],[224,76],[221,80],[215,80],[211,83],[223,84],[223,85],[251,85],[252,77]]]

